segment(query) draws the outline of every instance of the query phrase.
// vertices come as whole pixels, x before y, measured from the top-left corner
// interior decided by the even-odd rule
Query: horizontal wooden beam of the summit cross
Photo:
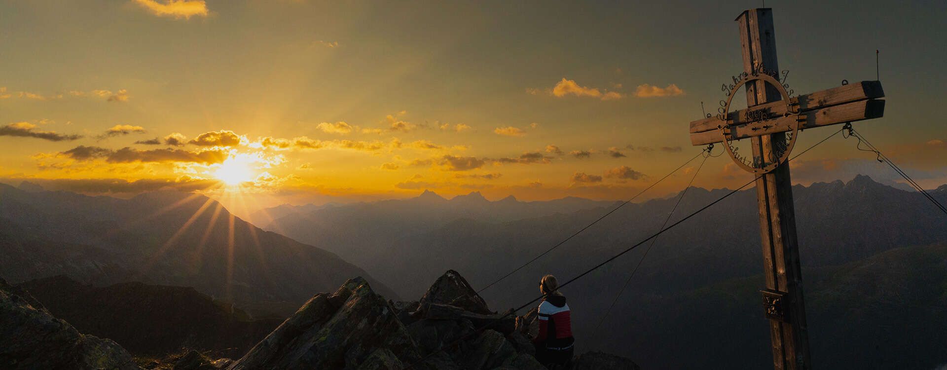
[[[791,132],[794,121],[799,129],[835,125],[839,123],[878,118],[884,115],[884,97],[881,81],[861,81],[833,87],[812,94],[793,97],[789,105],[799,113],[784,115],[787,106],[777,100],[731,112],[727,120],[709,117],[690,122],[690,143],[707,145],[723,141],[721,125],[729,126],[728,137],[744,139],[777,132]]]

